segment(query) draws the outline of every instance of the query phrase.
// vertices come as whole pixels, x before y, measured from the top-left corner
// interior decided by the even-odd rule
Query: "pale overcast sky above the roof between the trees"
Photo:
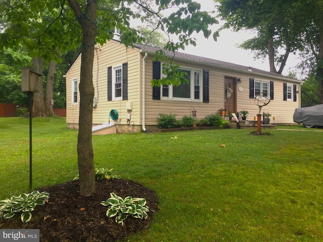
[[[211,11],[215,9],[215,3],[213,0],[194,0],[201,4],[202,11]],[[212,30],[216,31],[224,23],[217,20],[220,24],[212,26]],[[250,39],[253,37],[251,32],[239,31],[233,32],[229,29],[223,30],[220,32],[220,37],[218,41],[215,42],[213,37],[210,36],[208,39],[205,39],[203,33],[193,35],[196,41],[196,47],[187,46],[185,47],[185,53],[194,54],[198,56],[208,57],[212,59],[218,59],[220,61],[230,62],[243,66],[251,66],[258,68],[264,71],[269,71],[268,59],[257,59],[254,60],[254,54],[249,50],[244,50],[237,47],[244,40]],[[284,68],[283,75],[288,75],[289,68],[294,67],[297,64],[297,57],[293,54],[290,54],[288,57],[287,65]],[[277,68],[278,70],[278,68]]]

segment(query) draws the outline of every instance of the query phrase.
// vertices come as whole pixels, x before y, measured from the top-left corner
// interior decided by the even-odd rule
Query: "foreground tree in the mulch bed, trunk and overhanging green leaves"
[[[11,1],[8,1],[11,3]],[[139,37],[135,29],[130,28],[130,18],[140,18],[142,21],[146,16],[155,16],[156,28],[166,31],[170,34],[179,35],[179,41],[176,43],[168,42],[165,46],[168,50],[176,51],[178,48],[184,48],[187,44],[195,44],[195,40],[190,38],[193,32],[202,31],[207,38],[211,34],[209,25],[218,23],[216,19],[209,15],[207,12],[200,11],[200,4],[192,0],[156,0],[156,7],[152,8],[147,5],[147,0],[65,0],[60,2],[35,0],[28,2],[19,2],[20,5],[27,6],[30,15],[24,16],[24,20],[34,18],[35,15],[41,16],[42,9],[46,9],[51,13],[52,22],[48,24],[38,23],[33,25],[33,28],[39,30],[34,37],[37,41],[42,43],[49,43],[50,52],[44,52],[41,57],[45,59],[57,58],[56,49],[63,47],[62,45],[71,46],[71,39],[73,43],[81,45],[81,73],[80,73],[80,113],[79,113],[79,132],[78,132],[78,167],[80,174],[80,193],[83,196],[89,196],[95,192],[94,180],[94,162],[93,162],[93,148],[92,148],[92,102],[94,96],[94,88],[92,82],[92,68],[94,46],[99,43],[103,44],[106,40],[113,37],[114,29],[119,29],[123,35],[121,42],[126,46],[133,46],[134,42],[141,41],[143,38]],[[55,2],[55,3],[54,3]],[[149,1],[148,1],[149,2]],[[38,6],[39,5],[39,6]],[[134,12],[136,8],[130,8],[134,5],[141,13]],[[152,5],[151,5],[152,6]],[[21,7],[21,6],[20,6]],[[163,17],[164,10],[173,8],[173,12],[166,17]],[[0,9],[1,10],[1,9]],[[33,15],[32,15],[33,13]],[[40,21],[39,21],[40,22]],[[20,25],[25,25],[24,22],[19,22]],[[61,25],[61,26],[60,26]],[[41,34],[41,26],[43,34]],[[55,28],[52,28],[55,26]],[[26,26],[24,26],[26,27]],[[19,30],[19,26],[17,27]],[[29,31],[30,29],[28,29]],[[29,32],[25,34],[28,36]],[[4,45],[13,44],[9,37],[9,33],[5,32],[0,35],[0,47]],[[216,37],[217,35],[213,35]],[[215,39],[215,38],[214,38]],[[45,41],[46,40],[46,41]],[[48,42],[47,42],[48,41]],[[68,42],[68,43],[66,43]],[[44,45],[45,46],[45,45]],[[38,52],[39,53],[39,52]],[[163,55],[159,53],[159,56]],[[178,80],[183,81],[183,74],[177,71],[176,65],[169,67],[174,72],[168,72],[165,82],[172,82],[178,84]],[[171,73],[175,73],[175,78]],[[158,81],[158,85],[163,81]]]

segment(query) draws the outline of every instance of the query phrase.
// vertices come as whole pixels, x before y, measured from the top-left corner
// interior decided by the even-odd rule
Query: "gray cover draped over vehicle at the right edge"
[[[296,123],[323,126],[323,104],[296,108],[293,118]]]

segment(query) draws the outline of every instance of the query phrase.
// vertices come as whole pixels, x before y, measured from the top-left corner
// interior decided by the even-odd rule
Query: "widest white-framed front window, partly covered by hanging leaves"
[[[202,101],[202,70],[183,67],[181,71],[187,74],[185,78],[188,80],[188,83],[179,86],[164,85],[160,92],[160,99]]]

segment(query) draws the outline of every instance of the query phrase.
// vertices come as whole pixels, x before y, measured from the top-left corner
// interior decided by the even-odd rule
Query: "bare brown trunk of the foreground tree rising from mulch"
[[[80,73],[80,116],[77,141],[78,168],[80,174],[80,194],[90,196],[95,193],[94,160],[92,147],[93,114],[93,57],[96,30],[96,1],[87,2],[85,13],[76,0],[68,0],[75,16],[82,26],[82,56]]]

